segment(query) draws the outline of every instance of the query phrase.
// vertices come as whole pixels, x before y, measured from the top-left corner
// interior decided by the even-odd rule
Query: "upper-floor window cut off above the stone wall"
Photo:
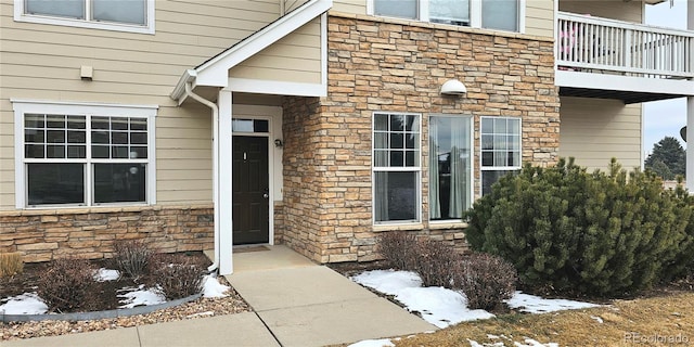
[[[373,14],[520,31],[524,0],[372,0]]]

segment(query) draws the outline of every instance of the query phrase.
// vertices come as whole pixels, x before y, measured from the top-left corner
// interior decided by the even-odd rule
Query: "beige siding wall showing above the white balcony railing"
[[[560,11],[576,14],[590,14],[592,16],[618,20],[632,23],[643,21],[643,7],[641,1],[624,0],[570,0],[560,1]]]

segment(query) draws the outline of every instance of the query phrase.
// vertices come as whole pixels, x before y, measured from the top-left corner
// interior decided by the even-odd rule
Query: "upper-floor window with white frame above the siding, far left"
[[[154,34],[154,0],[15,0],[14,20]]]

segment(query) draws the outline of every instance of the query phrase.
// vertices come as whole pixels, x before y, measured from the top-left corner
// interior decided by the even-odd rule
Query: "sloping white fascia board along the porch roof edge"
[[[198,66],[196,68],[196,85],[226,88],[229,81],[230,68],[327,12],[332,7],[333,0],[311,0],[303,5],[301,9],[279,18],[226,52]]]

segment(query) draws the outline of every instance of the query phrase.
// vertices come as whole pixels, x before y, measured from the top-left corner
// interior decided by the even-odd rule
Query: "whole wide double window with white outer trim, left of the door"
[[[13,103],[18,208],[153,203],[155,106]]]

